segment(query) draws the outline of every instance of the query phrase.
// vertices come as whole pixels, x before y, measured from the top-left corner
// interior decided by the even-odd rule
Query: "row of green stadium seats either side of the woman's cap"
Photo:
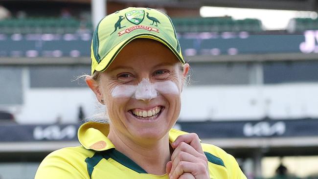
[[[257,19],[233,20],[221,18],[175,18],[176,30],[184,32],[260,32],[262,23]],[[37,17],[25,19],[6,19],[0,21],[0,33],[75,33],[80,28],[92,29],[91,22],[81,22],[75,18]]]

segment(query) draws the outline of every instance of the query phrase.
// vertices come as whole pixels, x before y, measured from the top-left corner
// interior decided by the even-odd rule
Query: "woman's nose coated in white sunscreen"
[[[158,96],[157,90],[148,78],[143,78],[137,86],[135,98],[137,100],[150,101]]]

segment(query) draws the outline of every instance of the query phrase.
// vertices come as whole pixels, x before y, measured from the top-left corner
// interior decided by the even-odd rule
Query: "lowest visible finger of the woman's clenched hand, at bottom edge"
[[[208,169],[202,163],[181,161],[171,175],[171,179],[178,179],[183,173],[191,173],[196,179],[208,176]]]

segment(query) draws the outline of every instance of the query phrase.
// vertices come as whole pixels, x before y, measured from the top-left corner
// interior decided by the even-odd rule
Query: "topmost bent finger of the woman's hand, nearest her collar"
[[[199,136],[195,133],[179,135],[177,139],[171,144],[173,148],[177,148],[181,142],[185,142],[192,146],[196,151],[203,154]]]

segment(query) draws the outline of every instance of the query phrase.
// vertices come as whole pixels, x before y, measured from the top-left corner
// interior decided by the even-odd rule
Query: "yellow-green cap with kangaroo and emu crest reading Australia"
[[[185,63],[175,28],[166,14],[151,8],[128,7],[107,15],[96,26],[91,41],[91,75],[105,71],[120,50],[136,38],[159,41]]]

